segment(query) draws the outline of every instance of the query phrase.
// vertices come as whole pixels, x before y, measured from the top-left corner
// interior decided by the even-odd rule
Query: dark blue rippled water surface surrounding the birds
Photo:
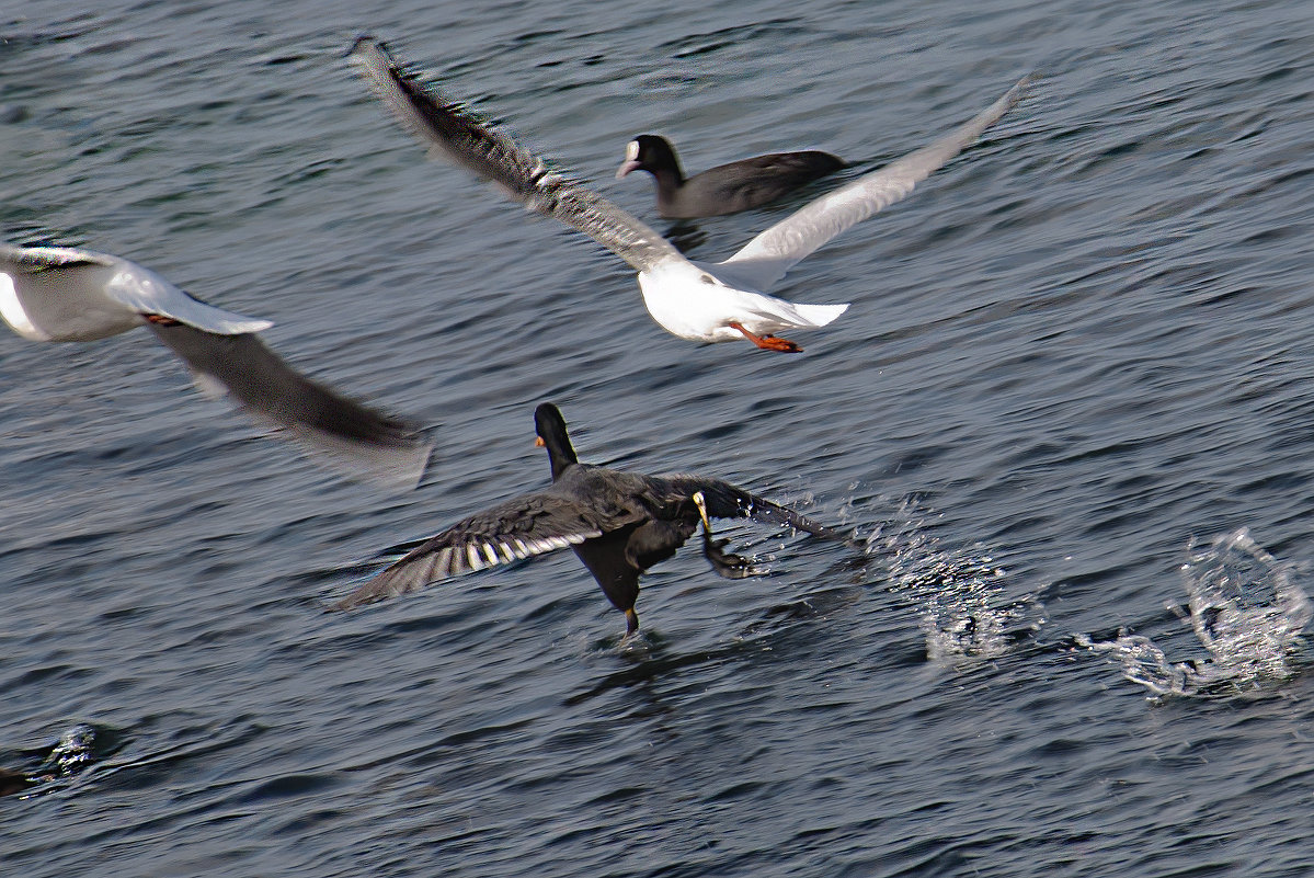
[[[35,778],[0,873],[1314,870],[1300,643],[1250,673],[1222,632],[1272,614],[1167,607],[1314,560],[1309,3],[93,5],[0,13],[0,234],[271,318],[440,446],[388,493],[146,334],[0,333],[0,768]],[[636,134],[865,168],[1042,79],[791,272],[853,308],[787,358],[666,335],[618,259],[426,160],[342,60],[363,30],[653,221],[611,179]],[[866,552],[727,524],[773,573],[686,551],[628,643],[569,553],[322,611],[541,485],[544,400],[586,460],[746,484]],[[1212,544],[1242,527],[1244,557]]]

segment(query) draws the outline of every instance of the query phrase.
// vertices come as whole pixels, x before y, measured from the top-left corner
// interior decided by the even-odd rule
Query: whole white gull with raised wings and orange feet
[[[474,114],[420,84],[373,37],[360,37],[350,58],[389,109],[432,152],[501,185],[530,210],[589,235],[639,271],[648,313],[668,333],[691,342],[748,339],[761,348],[794,354],[802,348],[774,334],[825,326],[849,308],[803,305],[766,290],[794,263],[849,226],[912,192],[958,155],[1021,99],[1029,78],[930,146],[804,205],[719,263],[686,259],[674,244],[631,213],[579,183],[551,171],[545,162]]]

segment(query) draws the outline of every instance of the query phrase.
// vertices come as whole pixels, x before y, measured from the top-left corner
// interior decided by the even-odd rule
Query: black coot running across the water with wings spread
[[[758,573],[744,557],[714,540],[710,518],[753,518],[788,524],[823,539],[838,531],[720,478],[643,476],[582,464],[570,446],[566,422],[552,404],[533,413],[536,444],[548,450],[552,484],[520,494],[457,522],[334,605],[350,610],[419,590],[468,570],[510,564],[572,548],[625,614],[625,634],[639,630],[635,601],[639,576],[665,561],[703,524],[703,553],[727,578]]]

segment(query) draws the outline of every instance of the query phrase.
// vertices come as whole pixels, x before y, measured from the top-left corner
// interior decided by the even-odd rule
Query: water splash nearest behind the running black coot
[[[882,557],[891,590],[917,603],[929,660],[1003,656],[1045,623],[1043,605],[1035,595],[1009,601],[1008,572],[984,551],[942,548],[929,517],[905,502],[867,538],[866,552]]]

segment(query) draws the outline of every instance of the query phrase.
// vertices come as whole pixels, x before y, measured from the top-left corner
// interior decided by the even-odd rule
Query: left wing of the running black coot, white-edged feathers
[[[378,576],[332,605],[350,610],[439,580],[510,564],[602,536],[602,528],[552,490],[522,494],[431,536]]]

